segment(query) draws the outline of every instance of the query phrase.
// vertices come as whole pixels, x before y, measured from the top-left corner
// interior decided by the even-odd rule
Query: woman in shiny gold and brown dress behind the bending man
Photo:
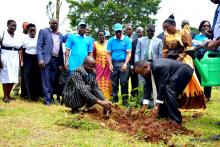
[[[174,19],[168,18],[163,23],[164,46],[162,57],[179,60],[194,68],[192,58],[184,51],[192,48],[192,37],[188,25],[185,25],[182,30],[176,29]],[[180,108],[205,108],[205,98],[199,80],[193,73],[191,81],[182,93],[180,99]]]

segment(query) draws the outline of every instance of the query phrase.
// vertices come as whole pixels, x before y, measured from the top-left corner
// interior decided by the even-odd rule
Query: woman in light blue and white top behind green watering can
[[[201,44],[203,44],[204,42],[207,42],[207,41],[213,39],[213,33],[211,31],[211,24],[209,21],[203,20],[199,25],[199,31],[200,31],[200,33],[197,34],[193,40],[193,45],[195,47],[198,47]],[[205,48],[198,47],[198,50],[196,52],[197,59],[201,60],[203,58],[203,56],[205,55],[206,51],[207,50]],[[201,81],[201,76],[197,70],[196,70],[196,75],[198,76],[199,81]],[[211,98],[211,90],[212,90],[212,87],[204,87],[205,98],[208,101]]]

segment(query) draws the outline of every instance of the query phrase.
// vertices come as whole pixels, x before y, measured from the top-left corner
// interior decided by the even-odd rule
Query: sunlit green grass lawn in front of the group
[[[46,107],[41,102],[32,103],[18,98],[9,104],[2,101],[0,87],[0,146],[167,146],[162,142],[152,144],[139,141],[126,133],[113,131],[85,114],[81,122],[60,105]],[[169,145],[220,146],[220,141],[208,138],[220,134],[220,89],[215,88],[207,109],[198,118],[196,112],[184,112],[188,119],[183,125],[201,136],[174,135]]]

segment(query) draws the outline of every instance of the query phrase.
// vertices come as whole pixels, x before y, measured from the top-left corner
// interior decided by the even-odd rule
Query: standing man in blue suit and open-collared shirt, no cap
[[[58,32],[58,21],[51,19],[50,28],[41,29],[37,41],[37,56],[41,68],[44,104],[49,106],[54,103],[53,89],[58,68],[64,65],[62,39]]]

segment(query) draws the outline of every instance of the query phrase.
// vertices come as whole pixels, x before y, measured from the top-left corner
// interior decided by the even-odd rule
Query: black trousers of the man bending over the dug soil
[[[182,93],[192,78],[193,69],[188,65],[178,69],[174,75],[170,77],[166,85],[166,96],[164,104],[161,105],[159,115],[168,115],[171,120],[182,123],[181,112],[178,110],[179,105],[177,97]]]

